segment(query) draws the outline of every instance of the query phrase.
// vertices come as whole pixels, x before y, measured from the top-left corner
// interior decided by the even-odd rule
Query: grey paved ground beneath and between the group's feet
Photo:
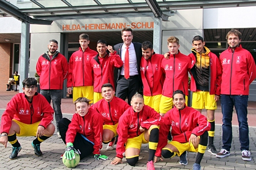
[[[2,105],[6,106],[6,101],[10,100],[10,98],[16,93],[11,92],[12,95],[9,95],[5,92],[0,95],[0,117],[2,117],[2,113],[5,111],[5,108],[1,107]],[[6,103],[6,104],[5,104]],[[72,104],[72,99],[63,99],[63,117],[67,117],[71,119],[72,114],[67,114],[74,112],[75,106]],[[255,117],[255,104],[251,104],[249,117]],[[219,113],[216,113],[219,114]],[[219,119],[219,118],[218,118]],[[236,122],[237,120],[233,120]],[[249,118],[249,121],[250,118]],[[255,119],[253,120],[255,122]],[[216,120],[216,122],[220,122],[220,120]],[[53,121],[55,124],[55,121]],[[250,123],[249,123],[250,125]],[[250,137],[250,151],[251,156],[254,157],[256,153],[256,127],[255,125],[250,125],[249,128],[249,137]],[[43,152],[42,156],[36,156],[31,147],[31,142],[35,137],[18,137],[20,145],[22,146],[22,150],[19,152],[18,158],[15,160],[10,160],[9,155],[11,154],[12,147],[10,143],[7,144],[7,148],[0,145],[0,170],[6,169],[70,169],[64,166],[62,163],[62,159],[60,159],[60,155],[65,151],[65,145],[63,141],[57,138],[57,133],[55,133],[51,138],[47,139],[41,144],[41,150]],[[221,125],[217,123],[214,145],[217,150],[221,149],[222,146],[222,130]],[[148,145],[143,145],[141,154],[139,156],[139,162],[135,167],[131,167],[126,163],[125,158],[123,159],[122,164],[111,165],[110,162],[115,157],[115,150],[106,151],[106,146],[103,145],[101,154],[109,156],[109,160],[95,160],[93,155],[90,155],[88,158],[84,158],[80,161],[79,165],[75,169],[147,169],[146,163],[148,159]],[[179,157],[175,156],[172,159],[164,159],[163,162],[155,163],[155,169],[192,169],[193,163],[195,162],[196,154],[189,152],[188,153],[188,165],[180,165]],[[216,158],[214,155],[211,155],[210,152],[206,151],[204,158],[201,162],[201,169],[256,169],[255,159],[252,158],[251,162],[245,162],[241,158],[240,151],[240,142],[238,138],[238,126],[233,126],[233,141],[232,148],[230,150],[230,156],[226,158]]]

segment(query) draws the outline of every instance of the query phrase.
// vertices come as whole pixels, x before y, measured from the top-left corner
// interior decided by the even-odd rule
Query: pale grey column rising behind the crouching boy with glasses
[[[29,47],[30,47],[30,23],[22,22],[22,31],[21,31],[21,39],[20,39],[19,92],[23,92],[22,81],[28,78]]]

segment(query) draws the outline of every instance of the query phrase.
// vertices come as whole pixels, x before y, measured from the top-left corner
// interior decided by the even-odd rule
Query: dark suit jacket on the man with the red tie
[[[137,58],[137,70],[139,74],[139,80],[140,83],[142,84],[141,80],[141,57],[142,57],[142,49],[141,49],[141,43],[139,42],[132,42],[134,45],[135,53],[136,53],[136,58]],[[117,54],[121,57],[121,49],[122,49],[123,43],[119,43],[117,45],[114,45],[114,50],[117,51]],[[117,69],[117,80],[119,79],[120,73],[121,73],[122,67]]]

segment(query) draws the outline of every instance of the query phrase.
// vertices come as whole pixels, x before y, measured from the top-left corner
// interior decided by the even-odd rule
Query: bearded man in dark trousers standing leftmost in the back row
[[[40,76],[40,94],[46,97],[49,104],[53,104],[55,120],[57,125],[57,135],[60,137],[58,122],[62,118],[61,113],[61,92],[64,79],[68,74],[67,59],[57,52],[58,42],[49,40],[48,52],[42,54],[36,63],[36,72]]]

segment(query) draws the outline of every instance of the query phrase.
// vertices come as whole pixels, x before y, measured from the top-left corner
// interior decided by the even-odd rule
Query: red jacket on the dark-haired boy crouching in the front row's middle
[[[102,115],[104,125],[115,125],[118,123],[123,112],[130,108],[130,105],[126,101],[114,96],[110,102],[101,99],[93,104],[91,108]]]

